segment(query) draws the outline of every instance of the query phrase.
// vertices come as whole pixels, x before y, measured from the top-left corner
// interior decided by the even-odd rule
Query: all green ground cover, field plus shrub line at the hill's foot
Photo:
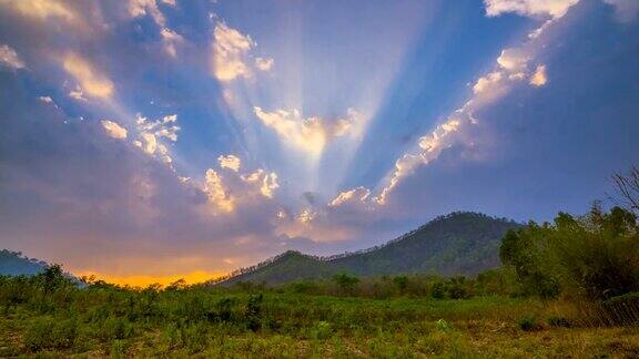
[[[36,276],[0,277],[0,357],[639,352],[639,329],[630,322],[592,326],[567,300],[525,296],[517,278],[504,267],[476,278],[341,274],[270,287],[179,281],[133,289],[94,280],[78,286],[52,266]]]

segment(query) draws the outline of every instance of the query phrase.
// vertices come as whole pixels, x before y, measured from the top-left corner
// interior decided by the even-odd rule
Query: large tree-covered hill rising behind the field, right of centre
[[[504,234],[520,225],[484,214],[455,212],[440,216],[383,246],[332,257],[290,250],[216,283],[282,284],[328,278],[337,273],[371,277],[398,274],[475,275],[499,266]]]

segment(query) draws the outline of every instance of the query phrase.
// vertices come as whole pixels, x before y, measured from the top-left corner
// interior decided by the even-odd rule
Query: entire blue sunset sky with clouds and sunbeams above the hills
[[[0,247],[120,284],[584,213],[637,0],[0,0]]]

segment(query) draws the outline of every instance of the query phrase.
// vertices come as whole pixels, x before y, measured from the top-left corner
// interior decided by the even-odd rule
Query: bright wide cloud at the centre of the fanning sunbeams
[[[298,110],[276,110],[266,112],[253,107],[255,116],[265,126],[273,129],[287,144],[318,155],[324,146],[335,137],[357,136],[362,130],[362,116],[348,109],[345,117],[327,120],[323,117],[303,117]]]

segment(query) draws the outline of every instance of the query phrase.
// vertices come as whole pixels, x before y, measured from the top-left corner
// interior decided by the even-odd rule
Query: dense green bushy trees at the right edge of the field
[[[554,224],[530,223],[509,232],[499,255],[527,293],[551,298],[562,290],[601,301],[639,290],[636,216],[595,205],[584,217],[560,213]]]

